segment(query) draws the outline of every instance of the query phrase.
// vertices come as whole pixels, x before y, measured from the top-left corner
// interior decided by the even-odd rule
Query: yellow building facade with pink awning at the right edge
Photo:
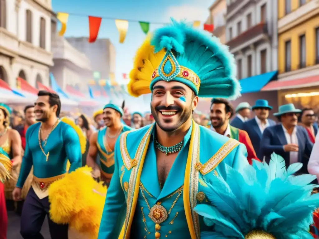
[[[266,88],[278,90],[279,105],[317,108],[318,52],[319,1],[278,0],[278,81]]]

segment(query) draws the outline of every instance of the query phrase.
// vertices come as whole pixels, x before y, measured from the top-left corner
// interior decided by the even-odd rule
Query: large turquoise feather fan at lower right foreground
[[[286,170],[284,159],[275,153],[269,165],[254,161],[244,171],[226,165],[225,180],[205,181],[203,192],[209,204],[194,208],[207,226],[213,226],[213,232],[202,232],[201,238],[248,238],[255,230],[276,239],[313,238],[308,231],[319,194],[311,195],[317,185],[310,183],[316,176],[293,176],[301,167],[302,163],[294,163]]]

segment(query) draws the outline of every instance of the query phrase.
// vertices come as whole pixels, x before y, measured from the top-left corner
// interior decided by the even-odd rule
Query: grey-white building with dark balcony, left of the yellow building
[[[277,0],[227,0],[226,45],[238,79],[278,69]]]

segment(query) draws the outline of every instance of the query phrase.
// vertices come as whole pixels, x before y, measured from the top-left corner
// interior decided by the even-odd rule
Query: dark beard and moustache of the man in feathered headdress
[[[180,118],[178,119],[177,123],[171,127],[165,127],[164,125],[161,125],[161,123],[159,122],[159,117],[158,117],[158,113],[160,114],[159,112],[160,109],[165,109],[165,110],[174,109],[174,110],[177,110],[177,114],[181,112]],[[165,132],[173,132],[179,129],[192,116],[192,110],[193,110],[192,105],[189,105],[189,108],[185,108],[184,111],[182,111],[182,108],[179,106],[168,106],[168,107],[156,106],[155,108],[152,108],[152,105],[151,105],[151,112],[154,117],[154,121]]]

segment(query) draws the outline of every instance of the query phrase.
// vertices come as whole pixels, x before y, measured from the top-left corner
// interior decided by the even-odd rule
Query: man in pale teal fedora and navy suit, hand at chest
[[[308,173],[307,165],[313,143],[310,141],[304,127],[297,125],[297,115],[301,110],[293,104],[279,106],[279,112],[273,115],[281,124],[267,127],[263,132],[260,142],[260,150],[267,163],[273,152],[282,156],[286,167],[292,163],[303,163],[298,173]]]

